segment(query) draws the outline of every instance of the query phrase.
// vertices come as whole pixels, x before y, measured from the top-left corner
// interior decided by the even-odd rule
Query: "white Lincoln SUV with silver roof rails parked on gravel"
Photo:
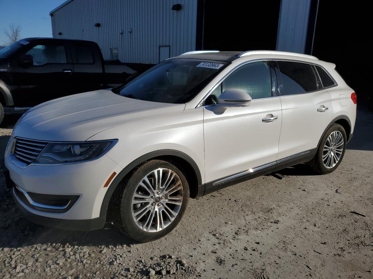
[[[38,105],[5,163],[31,221],[138,241],[173,230],[189,197],[294,164],[334,171],[356,94],[332,63],[278,51],[188,52],[122,87]]]

